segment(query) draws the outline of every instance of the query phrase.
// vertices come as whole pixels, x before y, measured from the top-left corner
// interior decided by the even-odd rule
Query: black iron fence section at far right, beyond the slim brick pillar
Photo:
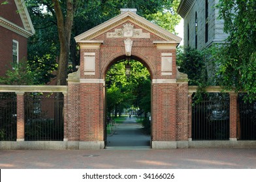
[[[238,98],[238,139],[256,140],[256,101],[244,101],[244,94]]]

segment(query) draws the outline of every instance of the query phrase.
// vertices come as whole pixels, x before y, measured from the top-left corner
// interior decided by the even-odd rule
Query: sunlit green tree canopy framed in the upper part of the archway
[[[127,60],[113,64],[106,73],[107,111],[108,113],[130,107],[137,107],[142,112],[151,112],[150,73],[143,64],[130,60],[131,75],[125,75]]]

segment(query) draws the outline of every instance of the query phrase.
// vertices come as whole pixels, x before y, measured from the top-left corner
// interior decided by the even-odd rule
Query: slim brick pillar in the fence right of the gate
[[[236,93],[229,93],[230,108],[229,108],[229,138],[230,140],[236,140],[236,119],[237,119],[237,97]]]

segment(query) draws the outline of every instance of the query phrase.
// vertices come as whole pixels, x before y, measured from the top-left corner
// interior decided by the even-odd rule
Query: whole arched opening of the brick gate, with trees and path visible
[[[138,57],[117,57],[104,81],[105,148],[150,148],[152,79],[146,63]]]

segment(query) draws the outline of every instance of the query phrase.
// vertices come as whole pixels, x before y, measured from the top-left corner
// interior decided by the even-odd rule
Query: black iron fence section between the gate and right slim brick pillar
[[[204,101],[193,102],[193,140],[229,140],[229,130],[228,94],[210,93]]]

